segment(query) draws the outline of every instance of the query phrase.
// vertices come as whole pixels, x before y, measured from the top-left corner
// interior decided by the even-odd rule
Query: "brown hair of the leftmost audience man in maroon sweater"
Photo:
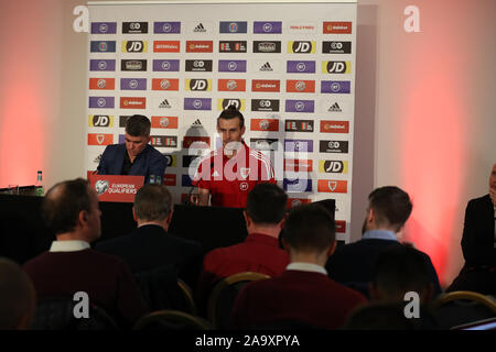
[[[56,184],[42,202],[42,217],[55,234],[75,229],[80,211],[91,212],[89,184],[76,178]]]

